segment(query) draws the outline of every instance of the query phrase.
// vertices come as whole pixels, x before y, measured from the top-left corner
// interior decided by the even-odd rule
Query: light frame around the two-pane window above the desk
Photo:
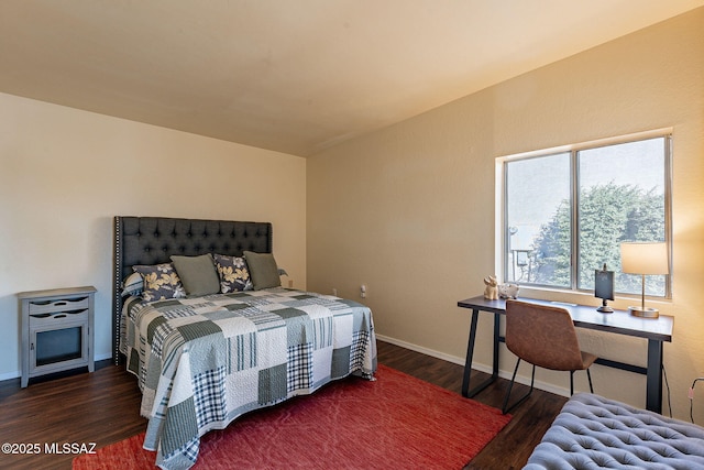
[[[544,157],[558,153],[569,153],[570,164],[570,286],[561,287],[557,285],[521,283],[526,288],[536,288],[556,292],[572,292],[578,294],[593,293],[593,289],[579,287],[579,258],[580,258],[580,227],[579,227],[579,204],[580,204],[580,175],[579,175],[579,157],[578,154],[584,150],[604,147],[609,145],[618,145],[650,139],[664,139],[664,242],[668,245],[668,264],[670,274],[664,277],[664,295],[654,296],[647,295],[652,298],[671,299],[672,298],[672,146],[673,136],[672,128],[657,129],[646,132],[631,133],[627,135],[600,139],[578,144],[568,144],[538,151],[522,152],[496,157],[495,160],[495,188],[496,188],[496,207],[495,207],[495,233],[496,233],[496,252],[495,252],[495,270],[501,273],[502,280],[506,282],[507,274],[510,272],[508,247],[509,230],[507,228],[507,204],[508,204],[508,181],[507,164],[520,160],[529,160],[536,157]],[[632,293],[615,292],[620,297],[635,296]]]

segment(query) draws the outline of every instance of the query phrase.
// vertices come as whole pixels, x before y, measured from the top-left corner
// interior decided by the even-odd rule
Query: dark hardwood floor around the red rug
[[[447,361],[378,342],[378,362],[460,393],[463,368]],[[481,372],[473,372],[481,380]],[[501,407],[507,381],[498,380],[474,400]],[[525,392],[516,385],[515,393]],[[0,453],[1,469],[70,469],[72,453],[57,453],[64,444],[97,448],[146,429],[140,416],[140,391],[133,375],[109,361],[96,372],[35,380],[26,389],[20,379],[0,382],[0,442],[38,445],[38,453]],[[514,418],[465,469],[519,469],[566,398],[536,390],[514,411]],[[451,425],[451,424],[449,424]],[[48,450],[54,452],[47,453]],[[30,446],[31,448],[31,446]],[[70,449],[68,449],[70,450]]]

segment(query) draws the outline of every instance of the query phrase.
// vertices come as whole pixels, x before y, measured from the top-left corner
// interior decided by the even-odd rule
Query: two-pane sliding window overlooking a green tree
[[[670,142],[659,132],[499,159],[504,280],[592,291],[606,264],[617,293],[639,294],[619,244],[670,243]],[[646,294],[669,297],[669,276],[646,276]]]

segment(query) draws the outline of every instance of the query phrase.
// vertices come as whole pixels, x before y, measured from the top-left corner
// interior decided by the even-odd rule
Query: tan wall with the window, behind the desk
[[[697,9],[309,159],[308,287],[359,299],[364,283],[380,335],[462,362],[470,313],[457,302],[481,294],[495,271],[495,157],[672,127],[674,298],[661,309],[675,316],[664,347],[673,411],[689,418],[686,390],[704,375],[703,32]],[[475,356],[485,367],[490,321]],[[581,338],[584,349],[645,364],[645,340]],[[504,353],[502,370],[513,364]],[[600,365],[593,374],[598,393],[645,405],[644,376]],[[552,390],[569,383],[557,372],[538,379]],[[695,411],[704,423],[704,406]]]

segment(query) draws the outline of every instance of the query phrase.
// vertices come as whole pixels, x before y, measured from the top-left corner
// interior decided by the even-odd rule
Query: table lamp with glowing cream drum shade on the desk
[[[620,244],[620,266],[624,273],[641,275],[640,307],[628,307],[630,315],[658,318],[657,308],[646,307],[646,274],[668,274],[668,245],[662,242],[628,242]]]

